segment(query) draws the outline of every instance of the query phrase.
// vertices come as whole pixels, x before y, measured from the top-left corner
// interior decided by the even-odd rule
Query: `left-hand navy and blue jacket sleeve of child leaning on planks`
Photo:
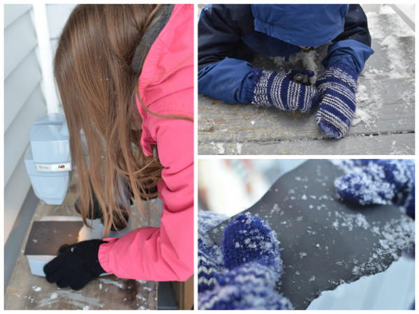
[[[210,5],[202,10],[198,22],[200,93],[227,103],[251,101],[252,52],[241,40],[253,31],[250,21],[250,5]]]

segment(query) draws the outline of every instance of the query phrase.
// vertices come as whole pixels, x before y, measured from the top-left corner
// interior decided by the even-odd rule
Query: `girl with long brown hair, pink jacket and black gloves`
[[[193,5],[76,6],[54,75],[84,223],[96,202],[104,234],[126,224],[126,191],[140,211],[140,200],[159,195],[163,214],[160,227],[61,247],[44,267],[47,281],[74,290],[105,272],[185,281],[193,274]]]

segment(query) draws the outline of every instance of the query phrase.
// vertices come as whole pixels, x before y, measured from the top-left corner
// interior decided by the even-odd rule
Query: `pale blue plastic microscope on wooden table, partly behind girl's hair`
[[[66,197],[73,172],[68,128],[64,114],[44,114],[41,116],[31,127],[29,140],[30,145],[25,152],[24,163],[34,193],[46,204],[61,205]],[[85,156],[85,158],[89,158],[89,156]],[[124,184],[124,181],[121,180],[120,184]],[[124,186],[125,184],[121,186],[123,190]],[[122,197],[124,200],[118,199],[118,202],[119,204],[128,204],[129,206],[131,199],[129,198],[128,190],[125,189],[125,193],[123,194]],[[75,202],[75,209],[80,214],[79,206],[80,204]],[[94,204],[93,206],[98,207],[98,204]],[[123,206],[121,205],[121,207]],[[96,211],[101,212],[101,208],[98,207]],[[62,242],[62,244],[68,244],[66,243],[68,239],[65,237],[63,239],[45,238],[45,234],[50,234],[50,232],[42,228],[39,231],[39,223],[52,222],[52,227],[56,228],[56,225],[59,225],[59,223],[67,222],[68,225],[74,225],[74,222],[78,221],[80,225],[75,227],[73,241],[101,239],[104,229],[101,217],[87,218],[88,225],[82,223],[80,216],[45,216],[38,222],[34,222],[24,254],[27,255],[31,273],[38,276],[45,276],[43,266],[55,257],[50,252],[43,251],[43,248],[33,248],[34,243],[41,243],[41,239],[38,239],[39,236],[32,235],[36,234],[36,228],[38,228],[38,234],[44,234],[41,237],[43,237],[42,242],[47,244],[46,246],[52,245],[52,241],[54,240],[59,243]],[[128,220],[128,216],[126,218]],[[57,222],[55,223],[56,225],[54,225],[54,222]],[[36,225],[35,223],[38,224]],[[133,225],[128,220],[128,224],[124,224],[118,230],[110,230],[107,237],[122,237],[122,235],[131,230],[133,230]],[[32,239],[32,237],[36,237],[36,239]],[[32,249],[28,251],[28,248],[31,247]]]

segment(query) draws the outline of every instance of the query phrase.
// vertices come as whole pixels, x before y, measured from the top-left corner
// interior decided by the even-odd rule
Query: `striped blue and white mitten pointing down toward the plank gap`
[[[345,63],[335,63],[318,77],[320,103],[316,114],[318,128],[330,137],[348,132],[355,114],[358,73]]]

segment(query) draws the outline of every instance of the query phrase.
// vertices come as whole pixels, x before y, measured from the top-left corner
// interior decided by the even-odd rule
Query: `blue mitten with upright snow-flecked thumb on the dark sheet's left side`
[[[200,309],[292,309],[275,287],[282,271],[279,242],[269,226],[250,214],[237,215],[226,227],[223,260],[212,290],[200,294]]]

